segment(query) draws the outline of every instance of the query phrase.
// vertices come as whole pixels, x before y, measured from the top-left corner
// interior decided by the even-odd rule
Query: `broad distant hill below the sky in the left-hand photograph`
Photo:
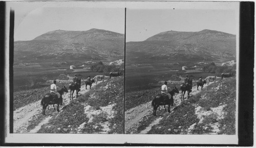
[[[31,41],[14,42],[14,61],[102,60],[124,55],[124,35],[90,29],[89,31],[52,31]]]

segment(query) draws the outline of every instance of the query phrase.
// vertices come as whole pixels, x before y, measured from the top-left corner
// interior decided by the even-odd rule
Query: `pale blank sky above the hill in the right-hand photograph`
[[[198,32],[210,29],[236,34],[234,10],[127,9],[126,42],[144,41],[166,31]]]

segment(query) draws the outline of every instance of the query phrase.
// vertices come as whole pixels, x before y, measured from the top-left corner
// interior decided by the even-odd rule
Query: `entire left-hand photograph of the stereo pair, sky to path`
[[[8,5],[13,133],[123,134],[125,9]]]

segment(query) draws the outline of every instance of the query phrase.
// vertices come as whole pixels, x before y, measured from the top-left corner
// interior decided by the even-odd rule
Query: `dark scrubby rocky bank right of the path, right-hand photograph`
[[[185,100],[148,134],[236,134],[236,78],[212,83]]]

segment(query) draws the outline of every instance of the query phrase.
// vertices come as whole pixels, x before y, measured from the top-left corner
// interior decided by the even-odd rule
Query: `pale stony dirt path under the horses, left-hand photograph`
[[[98,81],[100,83],[101,81]],[[92,87],[96,84],[93,83]],[[78,93],[78,96],[81,96],[89,91],[89,86],[81,85],[81,91]],[[65,93],[62,95],[63,103],[62,106],[59,107],[59,110],[68,105],[70,103],[70,90],[68,93]],[[73,99],[76,98],[76,92],[73,94]],[[29,122],[32,120],[33,116],[38,116],[38,114],[42,113],[42,106],[40,105],[41,100],[36,101],[34,103],[30,103],[24,107],[20,107],[16,109],[13,112],[13,132],[14,133],[27,133],[27,128],[29,126]],[[51,105],[52,106],[52,105]],[[55,105],[56,106],[56,105]],[[51,119],[51,117],[56,114],[57,111],[51,112],[51,114],[48,114],[44,117],[44,120],[42,120],[34,129],[30,130],[29,133],[36,133],[41,125],[48,123],[48,121]]]

